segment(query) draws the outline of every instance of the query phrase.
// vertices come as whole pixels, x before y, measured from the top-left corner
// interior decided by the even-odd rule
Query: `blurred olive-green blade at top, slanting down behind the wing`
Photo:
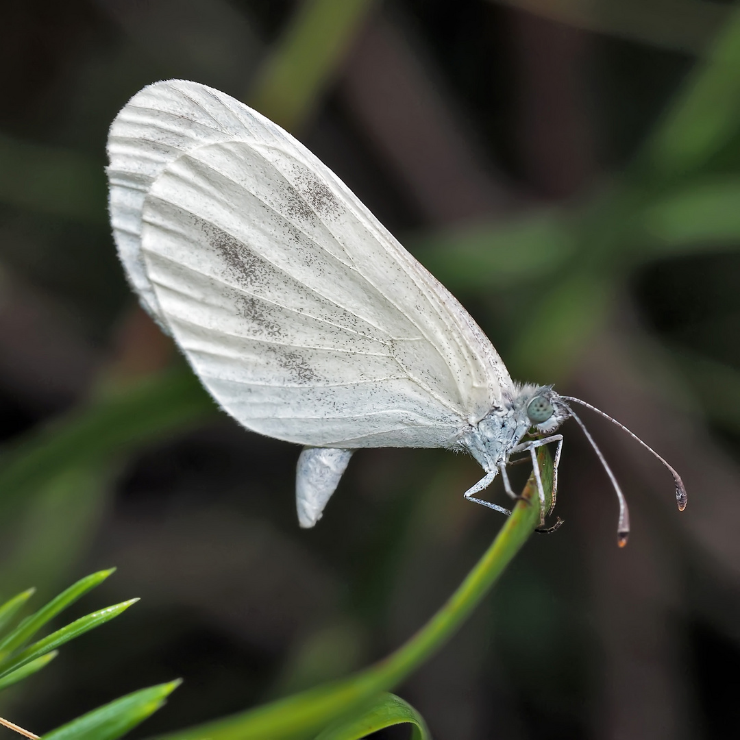
[[[305,0],[255,78],[249,104],[289,131],[310,114],[372,0]]]

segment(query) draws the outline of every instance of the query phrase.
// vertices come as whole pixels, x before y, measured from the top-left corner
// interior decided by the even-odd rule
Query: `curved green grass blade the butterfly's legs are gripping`
[[[545,491],[551,491],[552,462],[540,448],[539,465]],[[278,699],[245,713],[162,737],[160,740],[299,740],[316,736],[338,716],[362,710],[375,696],[390,690],[425,662],[460,628],[480,604],[511,559],[539,525],[534,478],[523,491],[493,544],[460,587],[414,636],[386,659],[348,679]]]

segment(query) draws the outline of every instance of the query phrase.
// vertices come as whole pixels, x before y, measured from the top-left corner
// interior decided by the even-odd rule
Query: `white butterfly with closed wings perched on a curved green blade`
[[[573,417],[619,496],[626,542],[625,499],[568,402],[593,406],[511,380],[454,296],[289,133],[171,80],[131,98],[108,155],[115,243],[144,308],[239,423],[306,445],[300,525],[320,519],[361,447],[467,451],[485,477],[465,497],[505,513],[475,494],[500,473],[515,497],[506,465],[529,454],[544,517],[536,448],[557,445],[554,500],[553,432]]]

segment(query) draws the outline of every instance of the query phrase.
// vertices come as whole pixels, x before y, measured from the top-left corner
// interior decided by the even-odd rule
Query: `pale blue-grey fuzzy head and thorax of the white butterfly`
[[[459,444],[485,471],[496,470],[508,462],[525,434],[551,434],[568,415],[568,407],[551,386],[517,385],[503,395],[499,406],[465,430]]]

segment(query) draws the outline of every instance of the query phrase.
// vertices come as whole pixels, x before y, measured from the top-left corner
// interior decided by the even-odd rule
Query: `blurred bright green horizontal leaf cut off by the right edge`
[[[700,181],[647,206],[645,229],[659,240],[659,249],[670,252],[740,246],[739,204],[739,178]]]

